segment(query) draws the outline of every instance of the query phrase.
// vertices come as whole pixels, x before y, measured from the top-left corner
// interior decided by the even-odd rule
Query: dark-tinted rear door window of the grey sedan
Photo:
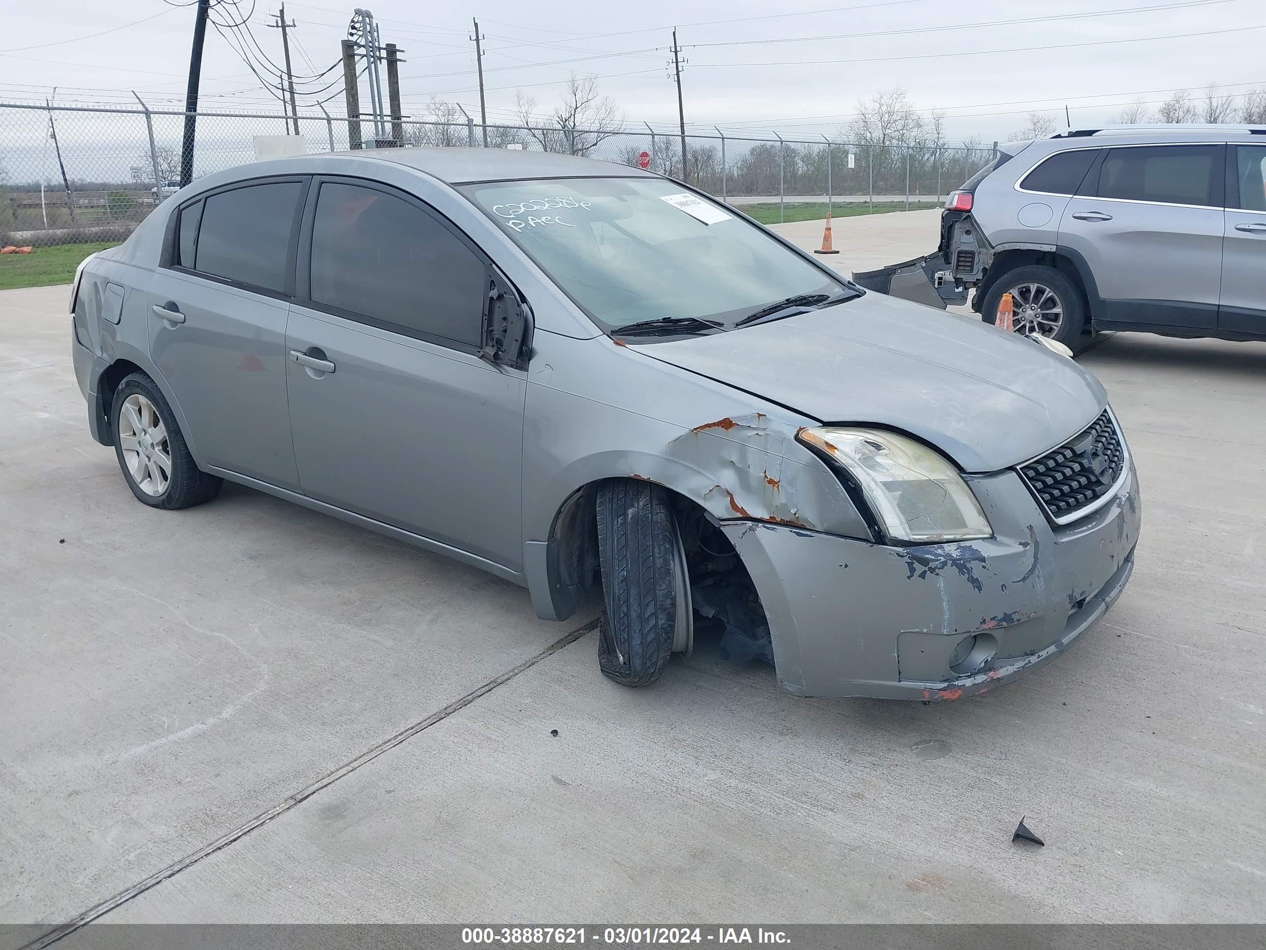
[[[282,293],[300,189],[298,181],[280,181],[220,191],[204,199],[192,269]],[[181,233],[181,262],[189,267],[184,243]]]

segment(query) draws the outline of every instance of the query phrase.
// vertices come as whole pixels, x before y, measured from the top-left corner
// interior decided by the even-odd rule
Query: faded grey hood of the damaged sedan
[[[1041,455],[1108,404],[1094,376],[1031,339],[874,293],[638,350],[820,422],[903,429],[970,472]]]

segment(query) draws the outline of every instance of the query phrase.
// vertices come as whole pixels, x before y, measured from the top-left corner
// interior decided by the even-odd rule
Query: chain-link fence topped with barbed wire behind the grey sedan
[[[194,177],[254,161],[258,136],[291,132],[281,114],[199,113]],[[352,147],[473,146],[549,151],[668,175],[738,206],[928,206],[993,161],[995,148],[881,147],[791,138],[595,132],[524,125],[300,115],[309,153]],[[123,241],[180,182],[185,114],[0,104],[0,247]],[[684,144],[684,148],[682,148]],[[684,152],[684,155],[682,155]],[[682,168],[682,157],[685,168]],[[775,218],[774,214],[777,214]],[[814,206],[806,212],[823,217]]]

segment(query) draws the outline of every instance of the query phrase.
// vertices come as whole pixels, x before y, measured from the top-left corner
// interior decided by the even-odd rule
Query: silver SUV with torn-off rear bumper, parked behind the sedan
[[[860,282],[1075,346],[1095,331],[1266,339],[1266,128],[1010,142],[946,201],[941,247]],[[934,288],[928,288],[928,281]],[[886,286],[879,286],[884,281]]]

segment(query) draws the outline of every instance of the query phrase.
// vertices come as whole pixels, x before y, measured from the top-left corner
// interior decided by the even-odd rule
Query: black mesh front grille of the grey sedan
[[[1124,465],[1125,447],[1104,409],[1082,432],[1019,471],[1051,517],[1066,522],[1108,494]]]

